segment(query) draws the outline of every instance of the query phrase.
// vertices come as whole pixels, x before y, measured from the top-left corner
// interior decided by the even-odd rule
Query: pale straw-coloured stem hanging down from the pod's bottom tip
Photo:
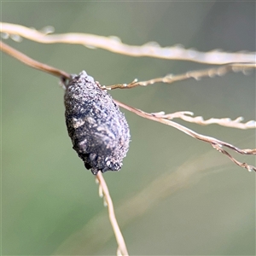
[[[109,195],[108,186],[104,180],[104,177],[102,176],[102,172],[98,172],[96,175],[96,179],[99,182],[99,194],[100,196],[103,195],[104,203],[106,203],[106,206],[108,207],[108,215],[110,219],[110,223],[113,227],[113,232],[116,238],[116,241],[118,243],[118,255],[128,255],[128,251],[125,245],[124,237],[119,229],[119,224],[115,218],[114,210],[113,210],[113,202],[111,199],[111,196]]]

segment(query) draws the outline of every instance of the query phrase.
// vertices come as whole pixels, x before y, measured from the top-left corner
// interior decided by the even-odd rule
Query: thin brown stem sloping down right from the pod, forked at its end
[[[150,120],[160,122],[160,123],[165,124],[165,125],[170,125],[170,126],[176,128],[179,131],[183,131],[184,133],[188,134],[190,137],[194,137],[194,138],[196,138],[198,140],[201,140],[203,142],[210,143],[212,148],[215,148],[215,149],[218,150],[218,152],[221,152],[222,154],[227,155],[230,158],[230,160],[232,160],[236,165],[241,166],[243,168],[246,168],[247,171],[249,171],[249,172],[252,172],[252,171],[256,172],[256,167],[255,166],[249,166],[249,165],[247,165],[247,163],[241,163],[241,162],[237,161],[227,151],[225,151],[224,148],[222,148],[222,147],[230,148],[231,150],[234,150],[236,153],[239,153],[239,154],[256,154],[256,148],[240,149],[240,148],[237,148],[237,147],[233,146],[230,143],[225,143],[225,142],[220,141],[220,140],[218,140],[214,137],[208,137],[208,136],[196,133],[195,131],[192,131],[189,128],[183,126],[183,125],[179,125],[179,124],[171,121],[170,119],[165,119],[165,118],[158,117],[157,115],[155,115],[155,113],[146,113],[146,112],[143,112],[142,110],[140,110],[138,108],[133,108],[133,107],[128,106],[128,105],[126,105],[122,102],[118,102],[116,100],[115,100],[115,102],[120,107],[125,108],[125,109],[131,111],[132,113],[136,113],[137,115],[142,116],[145,119],[150,119]]]

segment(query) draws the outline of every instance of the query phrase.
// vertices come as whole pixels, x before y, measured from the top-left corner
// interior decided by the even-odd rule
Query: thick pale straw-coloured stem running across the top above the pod
[[[48,34],[39,32],[33,28],[10,23],[0,23],[1,32],[43,44],[82,44],[89,48],[107,49],[121,55],[148,56],[168,60],[195,61],[207,64],[226,64],[231,62],[254,62],[255,52],[228,53],[219,49],[208,52],[200,52],[195,49],[184,49],[181,45],[172,47],[160,47],[155,42],[149,42],[141,46],[123,44],[117,37],[102,37],[86,33]]]

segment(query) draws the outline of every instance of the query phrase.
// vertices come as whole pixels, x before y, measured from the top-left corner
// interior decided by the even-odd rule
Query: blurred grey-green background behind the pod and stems
[[[117,36],[125,44],[255,51],[255,2],[3,2],[2,20],[37,29],[50,25],[56,33]],[[5,42],[67,73],[84,69],[101,84],[206,67],[82,45]],[[58,79],[2,54],[1,83],[3,255],[115,254],[95,178],[67,136]],[[255,119],[253,72],[111,94],[146,112],[189,110],[205,119]],[[104,177],[129,253],[254,255],[255,173],[181,131],[124,112],[131,148],[122,170]],[[253,130],[185,125],[255,148]],[[234,156],[255,165],[253,156]]]

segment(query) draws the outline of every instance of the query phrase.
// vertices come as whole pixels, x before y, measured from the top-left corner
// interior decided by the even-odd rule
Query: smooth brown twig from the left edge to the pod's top
[[[61,79],[70,79],[70,74],[68,74],[60,69],[57,69],[55,67],[50,67],[49,65],[46,65],[39,61],[35,61],[32,58],[28,57],[27,55],[21,53],[19,50],[14,49],[7,44],[4,44],[2,41],[0,41],[0,49],[3,52],[5,52],[6,54],[9,54],[9,55],[13,56],[15,59],[25,63],[27,66],[36,68],[36,69],[44,71],[46,73],[50,73],[50,74],[52,74],[58,78],[61,78]]]

